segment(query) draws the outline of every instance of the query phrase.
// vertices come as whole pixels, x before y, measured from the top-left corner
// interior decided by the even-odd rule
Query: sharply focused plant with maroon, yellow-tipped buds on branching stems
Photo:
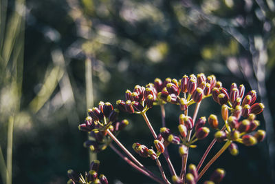
[[[98,107],[88,110],[85,123],[79,125],[79,129],[89,132],[90,139],[85,141],[85,147],[89,147],[92,152],[100,152],[107,146],[118,154],[124,161],[129,163],[135,170],[150,177],[157,183],[197,183],[201,176],[208,170],[210,165],[221,156],[225,150],[229,150],[232,155],[238,154],[238,147],[236,143],[241,143],[246,146],[255,145],[263,141],[265,137],[264,130],[256,130],[259,126],[259,121],[256,120],[256,114],[263,112],[263,103],[256,102],[256,92],[254,90],[245,94],[244,85],[236,85],[232,83],[230,89],[223,88],[222,83],[216,80],[214,75],[208,77],[205,74],[191,74],[190,76],[184,75],[181,79],[167,78],[165,81],[155,79],[154,83],[148,83],[145,87],[135,85],[133,92],[126,90],[126,100],[116,101],[116,107],[109,102],[100,101]],[[201,101],[212,96],[212,99],[221,105],[221,119],[214,114],[210,114],[208,119],[206,116],[201,116],[197,119],[197,113],[201,105]],[[179,105],[178,132],[172,132],[165,121],[165,108],[166,103]],[[149,121],[146,112],[153,108],[154,105],[159,105],[162,114],[162,127],[159,132],[155,132],[151,122]],[[195,105],[195,110],[192,116],[188,111],[190,105]],[[126,112],[129,114],[140,114],[143,116],[148,129],[150,130],[153,140],[149,149],[142,143],[133,143],[133,150],[139,156],[150,158],[155,161],[161,178],[148,170],[136,157],[129,152],[129,150],[122,145],[117,136],[120,131],[128,125],[129,121],[126,119],[118,121],[119,112]],[[222,121],[221,121],[222,120]],[[188,151],[190,148],[195,148],[195,143],[201,139],[206,139],[210,129],[206,127],[208,121],[210,127],[217,131],[214,134],[214,139],[204,152],[201,160],[197,165],[190,164],[187,168]],[[116,143],[124,152],[124,155],[118,150],[113,142]],[[224,143],[221,150],[215,154],[212,159],[200,171],[203,161],[210,152],[212,146],[216,143]],[[177,173],[170,161],[168,153],[168,145],[175,144],[179,147],[179,155],[181,156],[181,171]],[[151,146],[151,145],[150,145]],[[166,173],[159,161],[159,156],[164,156],[169,170],[171,181],[166,177]],[[97,170],[94,170],[95,163],[91,163],[91,168],[82,175],[72,174],[69,170],[70,183],[108,183],[106,176],[98,179]],[[204,183],[220,183],[225,171],[218,168],[210,176],[209,181]]]

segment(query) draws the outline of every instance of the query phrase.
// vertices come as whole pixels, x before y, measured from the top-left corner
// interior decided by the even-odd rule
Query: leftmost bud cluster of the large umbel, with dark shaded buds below
[[[118,121],[118,109],[113,109],[113,105],[109,102],[102,102],[98,107],[88,110],[89,116],[85,119],[85,123],[80,124],[79,130],[89,132],[90,139],[85,141],[84,147],[89,147],[92,152],[100,152],[104,150],[107,145],[106,135],[107,129],[114,134],[129,124],[126,119]]]

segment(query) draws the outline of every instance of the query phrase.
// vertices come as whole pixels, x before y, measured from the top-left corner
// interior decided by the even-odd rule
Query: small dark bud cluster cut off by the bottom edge
[[[98,175],[98,168],[100,162],[98,160],[92,161],[89,172],[85,172],[85,176],[77,174],[74,170],[68,170],[67,174],[69,181],[72,184],[108,184],[107,177],[104,174]]]

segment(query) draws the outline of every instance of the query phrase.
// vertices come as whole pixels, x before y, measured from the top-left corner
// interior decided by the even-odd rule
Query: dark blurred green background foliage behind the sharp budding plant
[[[156,77],[199,72],[214,74],[225,88],[235,82],[256,90],[267,131],[263,143],[239,145],[239,156],[226,151],[203,180],[223,167],[223,183],[275,183],[274,1],[1,0],[0,8],[0,183],[66,183],[67,170],[89,170],[87,134],[78,130],[87,108],[115,104],[126,89]],[[155,130],[159,112],[148,111]],[[214,112],[219,105],[205,100],[198,116]],[[179,114],[166,105],[172,130]],[[131,151],[134,142],[151,145],[142,117],[125,117],[122,143]],[[188,163],[197,165],[210,141],[199,141]],[[168,150],[179,172],[177,147]],[[98,159],[109,183],[153,183],[109,148]],[[140,160],[158,172],[153,161]]]

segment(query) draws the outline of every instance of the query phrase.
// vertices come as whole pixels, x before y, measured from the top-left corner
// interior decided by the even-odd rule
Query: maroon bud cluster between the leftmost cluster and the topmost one
[[[118,100],[116,105],[123,112],[140,113],[153,107],[153,102],[157,98],[157,91],[152,83],[144,86],[135,85],[133,92],[126,90],[126,101]]]

